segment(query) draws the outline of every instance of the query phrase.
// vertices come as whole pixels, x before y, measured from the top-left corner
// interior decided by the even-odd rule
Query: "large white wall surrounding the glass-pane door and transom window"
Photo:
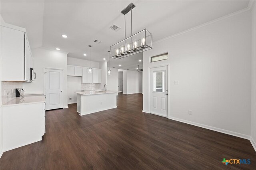
[[[149,111],[148,67],[169,64],[170,119],[248,137],[250,24],[246,12],[154,43],[143,53],[143,110]],[[150,63],[150,56],[167,51],[168,60]]]

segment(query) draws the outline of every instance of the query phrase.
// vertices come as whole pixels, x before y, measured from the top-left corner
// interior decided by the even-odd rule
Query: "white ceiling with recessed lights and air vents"
[[[68,52],[68,57],[92,60],[108,58],[110,45],[124,39],[124,15],[121,11],[133,2],[133,33],[144,28],[157,41],[200,24],[226,16],[248,6],[248,1],[3,1],[1,16],[5,22],[26,28],[32,48],[46,47]],[[121,27],[115,32],[112,24]],[[126,35],[130,35],[130,13],[126,15]],[[62,38],[62,34],[68,38]],[[100,40],[102,43],[94,43]],[[154,46],[153,46],[154,47]],[[136,69],[142,54],[111,59],[112,66]],[[121,66],[118,66],[118,65]]]

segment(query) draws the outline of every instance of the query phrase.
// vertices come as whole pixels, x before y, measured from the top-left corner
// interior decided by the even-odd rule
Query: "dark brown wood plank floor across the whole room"
[[[0,169],[256,169],[249,140],[142,113],[142,94],[120,94],[118,108],[82,117],[68,107],[47,111],[43,140],[4,152]]]

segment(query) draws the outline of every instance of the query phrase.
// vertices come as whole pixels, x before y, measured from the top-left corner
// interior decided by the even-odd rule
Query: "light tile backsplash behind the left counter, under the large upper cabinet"
[[[16,88],[22,88],[22,82],[2,81],[2,104],[16,97]]]

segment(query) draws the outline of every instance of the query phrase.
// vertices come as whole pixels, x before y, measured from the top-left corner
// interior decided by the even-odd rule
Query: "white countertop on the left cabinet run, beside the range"
[[[45,98],[43,95],[38,96],[24,96],[24,97],[16,97],[7,103],[2,104],[2,107],[15,106],[15,105],[25,105],[32,103],[44,103]]]

